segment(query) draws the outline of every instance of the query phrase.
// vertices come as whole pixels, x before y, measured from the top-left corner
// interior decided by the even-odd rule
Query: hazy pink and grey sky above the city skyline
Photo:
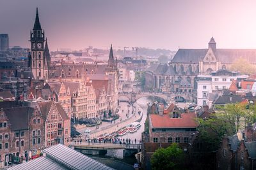
[[[29,47],[36,6],[50,50],[114,48],[256,48],[256,1],[0,0],[0,33]]]

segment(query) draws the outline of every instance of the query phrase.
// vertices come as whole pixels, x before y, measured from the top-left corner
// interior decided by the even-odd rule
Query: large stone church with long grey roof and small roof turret
[[[145,72],[149,89],[192,92],[196,76],[229,69],[240,57],[256,64],[256,49],[218,49],[212,37],[205,49],[179,49],[169,64],[153,64]]]

